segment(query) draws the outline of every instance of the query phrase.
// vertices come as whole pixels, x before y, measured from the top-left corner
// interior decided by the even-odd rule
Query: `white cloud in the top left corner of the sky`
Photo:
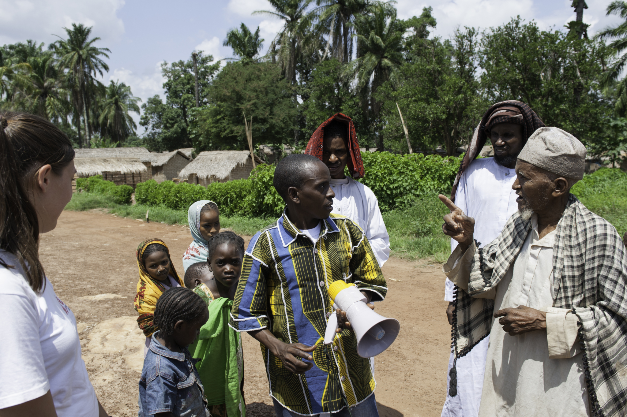
[[[55,41],[65,38],[63,27],[72,23],[93,26],[92,36],[119,41],[124,23],[117,11],[124,0],[0,0],[0,44],[34,39]],[[98,46],[98,45],[97,45]]]

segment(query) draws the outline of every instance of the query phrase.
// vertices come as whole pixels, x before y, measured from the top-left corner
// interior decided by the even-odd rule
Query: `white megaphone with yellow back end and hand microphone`
[[[401,328],[398,320],[388,319],[372,311],[366,305],[367,299],[355,284],[344,281],[335,281],[329,286],[329,297],[333,300],[333,312],[329,316],[327,329],[324,333],[324,343],[331,344],[337,329],[336,309],[346,312],[357,337],[357,354],[362,358],[372,358],[386,350],[398,336]]]

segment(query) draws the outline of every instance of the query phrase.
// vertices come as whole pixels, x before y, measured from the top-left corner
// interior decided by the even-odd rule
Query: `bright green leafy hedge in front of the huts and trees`
[[[416,198],[450,192],[461,159],[437,155],[364,153],[366,176],[361,182],[379,199],[382,212],[402,209]],[[198,200],[212,200],[227,216],[277,217],[285,204],[272,185],[274,165],[260,165],[244,180],[214,182],[207,187],[149,180],[135,189],[137,203],[185,210]]]

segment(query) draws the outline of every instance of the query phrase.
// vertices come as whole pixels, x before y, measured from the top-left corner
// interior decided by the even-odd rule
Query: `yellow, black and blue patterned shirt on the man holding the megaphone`
[[[340,279],[354,283],[370,291],[372,301],[382,301],[387,292],[362,229],[335,214],[321,226],[314,245],[284,213],[251,239],[229,322],[237,331],[268,328],[285,343],[317,345],[314,366],[298,375],[287,371],[281,359],[261,344],[270,394],[304,415],[354,406],[375,386],[370,361],[357,355],[352,331],[342,331],[330,346],[323,344],[333,310],[327,294],[330,284]]]

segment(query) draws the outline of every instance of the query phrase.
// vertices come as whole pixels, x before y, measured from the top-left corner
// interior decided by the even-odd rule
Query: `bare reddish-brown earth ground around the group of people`
[[[56,294],[78,322],[83,359],[109,414],[137,416],[137,381],[144,336],[133,297],[135,248],[159,237],[177,272],[191,237],[187,227],[120,219],[100,210],[63,212],[41,239],[40,254]],[[246,245],[250,237],[246,238]],[[441,265],[391,258],[383,268],[389,291],[376,311],[401,322],[396,342],[375,359],[376,398],[382,417],[439,416],[445,399],[450,326]],[[274,416],[258,342],[243,334],[248,416]]]

